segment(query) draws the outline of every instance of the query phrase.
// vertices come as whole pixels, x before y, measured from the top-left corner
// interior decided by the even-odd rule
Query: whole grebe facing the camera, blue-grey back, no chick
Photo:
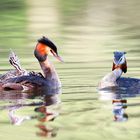
[[[99,83],[98,89],[109,88],[125,88],[126,90],[134,90],[140,94],[140,79],[121,77],[123,73],[127,72],[127,61],[125,52],[114,52],[112,72],[105,75]]]

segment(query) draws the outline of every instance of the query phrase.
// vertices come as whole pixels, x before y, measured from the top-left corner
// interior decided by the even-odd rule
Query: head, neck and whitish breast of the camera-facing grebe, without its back
[[[125,52],[114,52],[112,72],[103,77],[99,83],[99,89],[117,87],[117,80],[121,77],[122,73],[127,72],[127,62]]]

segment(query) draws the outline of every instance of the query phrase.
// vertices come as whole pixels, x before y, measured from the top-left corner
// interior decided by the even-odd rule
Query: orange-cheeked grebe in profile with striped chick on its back
[[[27,72],[22,70],[16,55],[10,56],[10,63],[16,68],[0,77],[1,90],[30,90],[30,89],[57,89],[61,87],[58,74],[54,66],[50,63],[48,55],[52,55],[62,61],[58,55],[56,45],[46,37],[38,40],[34,50],[34,55],[38,59],[44,76],[41,73]]]

